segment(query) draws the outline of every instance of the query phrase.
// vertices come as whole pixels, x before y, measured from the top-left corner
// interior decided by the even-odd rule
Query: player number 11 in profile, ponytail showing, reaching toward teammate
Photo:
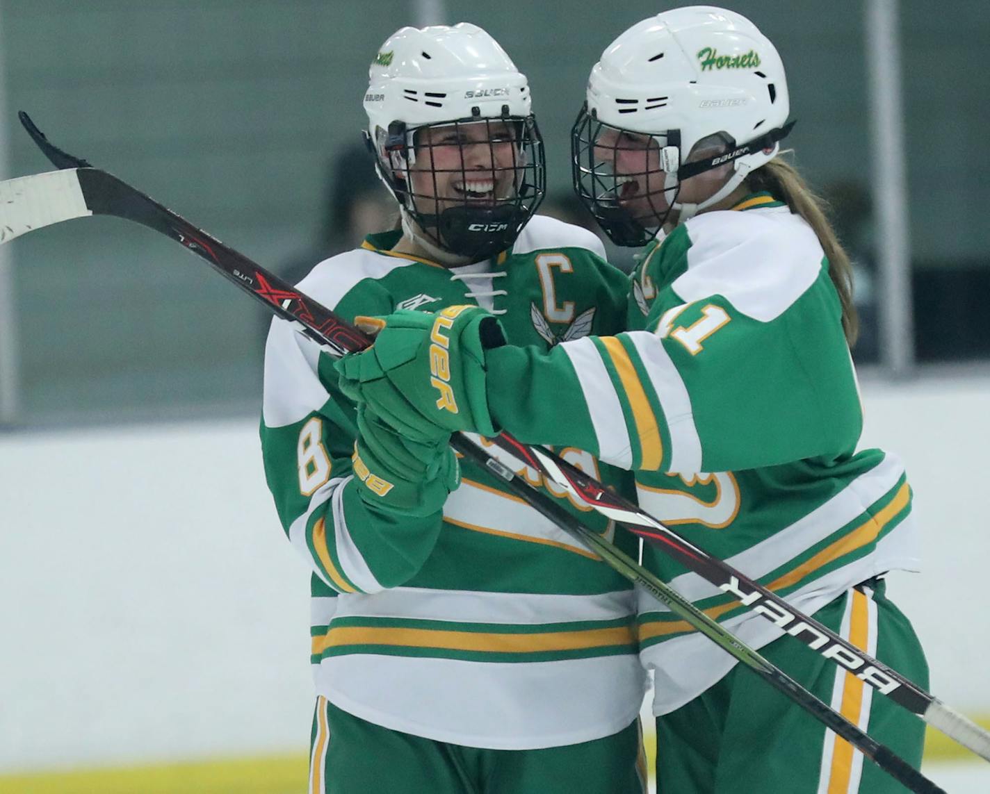
[[[921,646],[882,579],[917,569],[911,489],[896,457],[856,452],[849,266],[779,157],[788,113],[780,57],[739,14],[682,8],[634,26],[592,69],[572,139],[582,201],[614,241],[646,246],[629,331],[548,352],[484,350],[479,328],[490,347],[495,319],[458,316],[444,404],[430,381],[434,325],[402,334],[396,315],[371,350],[341,362],[342,384],[396,426],[505,429],[635,470],[648,512],[926,686]],[[921,762],[914,715],[661,551],[644,554],[744,642]],[[640,621],[658,791],[902,790],[663,607],[644,600]]]

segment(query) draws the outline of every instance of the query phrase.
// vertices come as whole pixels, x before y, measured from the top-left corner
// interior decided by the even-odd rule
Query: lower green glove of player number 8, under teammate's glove
[[[443,509],[460,485],[450,434],[432,441],[403,438],[367,405],[357,406],[357,440],[351,456],[358,492],[365,503],[393,513],[427,516]]]

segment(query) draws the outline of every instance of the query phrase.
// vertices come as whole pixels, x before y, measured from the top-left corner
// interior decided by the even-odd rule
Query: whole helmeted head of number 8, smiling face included
[[[402,28],[368,70],[366,138],[404,226],[478,261],[509,248],[545,195],[530,87],[481,28]]]

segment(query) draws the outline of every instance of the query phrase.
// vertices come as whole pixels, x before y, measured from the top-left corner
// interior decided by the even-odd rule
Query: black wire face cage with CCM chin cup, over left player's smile
[[[392,189],[428,239],[481,261],[509,248],[546,192],[544,142],[535,117],[458,119],[389,126]]]

